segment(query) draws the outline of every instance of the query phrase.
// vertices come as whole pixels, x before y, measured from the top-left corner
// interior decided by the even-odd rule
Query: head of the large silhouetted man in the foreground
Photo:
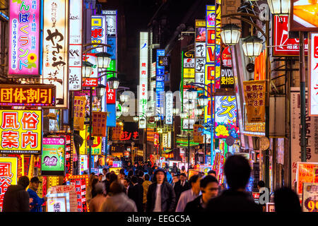
[[[245,189],[251,175],[251,167],[242,155],[231,155],[225,160],[224,173],[231,189]]]

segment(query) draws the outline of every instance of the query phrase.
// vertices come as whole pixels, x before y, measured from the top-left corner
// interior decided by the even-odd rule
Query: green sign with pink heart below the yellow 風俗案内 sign
[[[65,175],[65,138],[43,138],[41,175]]]

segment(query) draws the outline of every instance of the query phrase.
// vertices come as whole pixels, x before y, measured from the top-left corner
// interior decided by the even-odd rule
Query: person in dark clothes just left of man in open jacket
[[[138,212],[143,212],[143,186],[138,183],[136,176],[131,177],[131,184],[128,189],[128,197],[134,200]]]

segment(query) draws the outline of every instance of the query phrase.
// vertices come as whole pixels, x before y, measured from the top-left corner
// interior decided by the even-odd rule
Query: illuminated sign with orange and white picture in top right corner
[[[317,2],[291,0],[290,4],[289,30],[317,31]]]

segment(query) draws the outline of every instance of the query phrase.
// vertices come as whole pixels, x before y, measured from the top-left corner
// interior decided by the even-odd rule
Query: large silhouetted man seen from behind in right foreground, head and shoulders
[[[251,176],[251,167],[245,157],[232,155],[227,158],[224,165],[226,181],[230,189],[212,198],[208,202],[208,212],[261,212],[260,206],[249,198],[245,187]]]

